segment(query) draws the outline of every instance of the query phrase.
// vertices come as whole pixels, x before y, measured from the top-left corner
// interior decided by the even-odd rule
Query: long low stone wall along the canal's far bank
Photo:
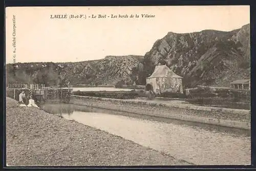
[[[249,110],[196,106],[190,104],[161,104],[151,101],[133,101],[75,95],[71,97],[71,103],[140,115],[208,123],[246,130],[250,129]]]

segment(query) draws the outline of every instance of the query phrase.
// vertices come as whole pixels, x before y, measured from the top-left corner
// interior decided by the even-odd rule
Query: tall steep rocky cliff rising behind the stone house
[[[232,80],[250,78],[250,25],[230,32],[169,32],[155,42],[133,73],[139,76],[137,83],[144,84],[159,63],[183,76],[185,87],[228,86]]]

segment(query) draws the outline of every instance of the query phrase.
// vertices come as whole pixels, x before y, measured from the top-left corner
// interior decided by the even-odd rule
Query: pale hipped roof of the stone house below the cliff
[[[154,72],[150,77],[147,78],[183,78],[177,74],[175,74],[172,70],[170,70],[166,65],[156,66]]]

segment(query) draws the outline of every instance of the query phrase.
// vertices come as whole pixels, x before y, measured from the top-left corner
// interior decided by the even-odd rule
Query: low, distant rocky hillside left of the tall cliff
[[[114,86],[119,80],[133,83],[132,69],[143,56],[106,56],[104,59],[53,63],[15,63],[7,65],[7,83],[36,82],[49,85],[108,84]]]

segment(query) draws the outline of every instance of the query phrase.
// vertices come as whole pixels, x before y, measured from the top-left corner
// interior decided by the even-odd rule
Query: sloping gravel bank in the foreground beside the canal
[[[33,107],[6,101],[8,166],[190,165]]]

